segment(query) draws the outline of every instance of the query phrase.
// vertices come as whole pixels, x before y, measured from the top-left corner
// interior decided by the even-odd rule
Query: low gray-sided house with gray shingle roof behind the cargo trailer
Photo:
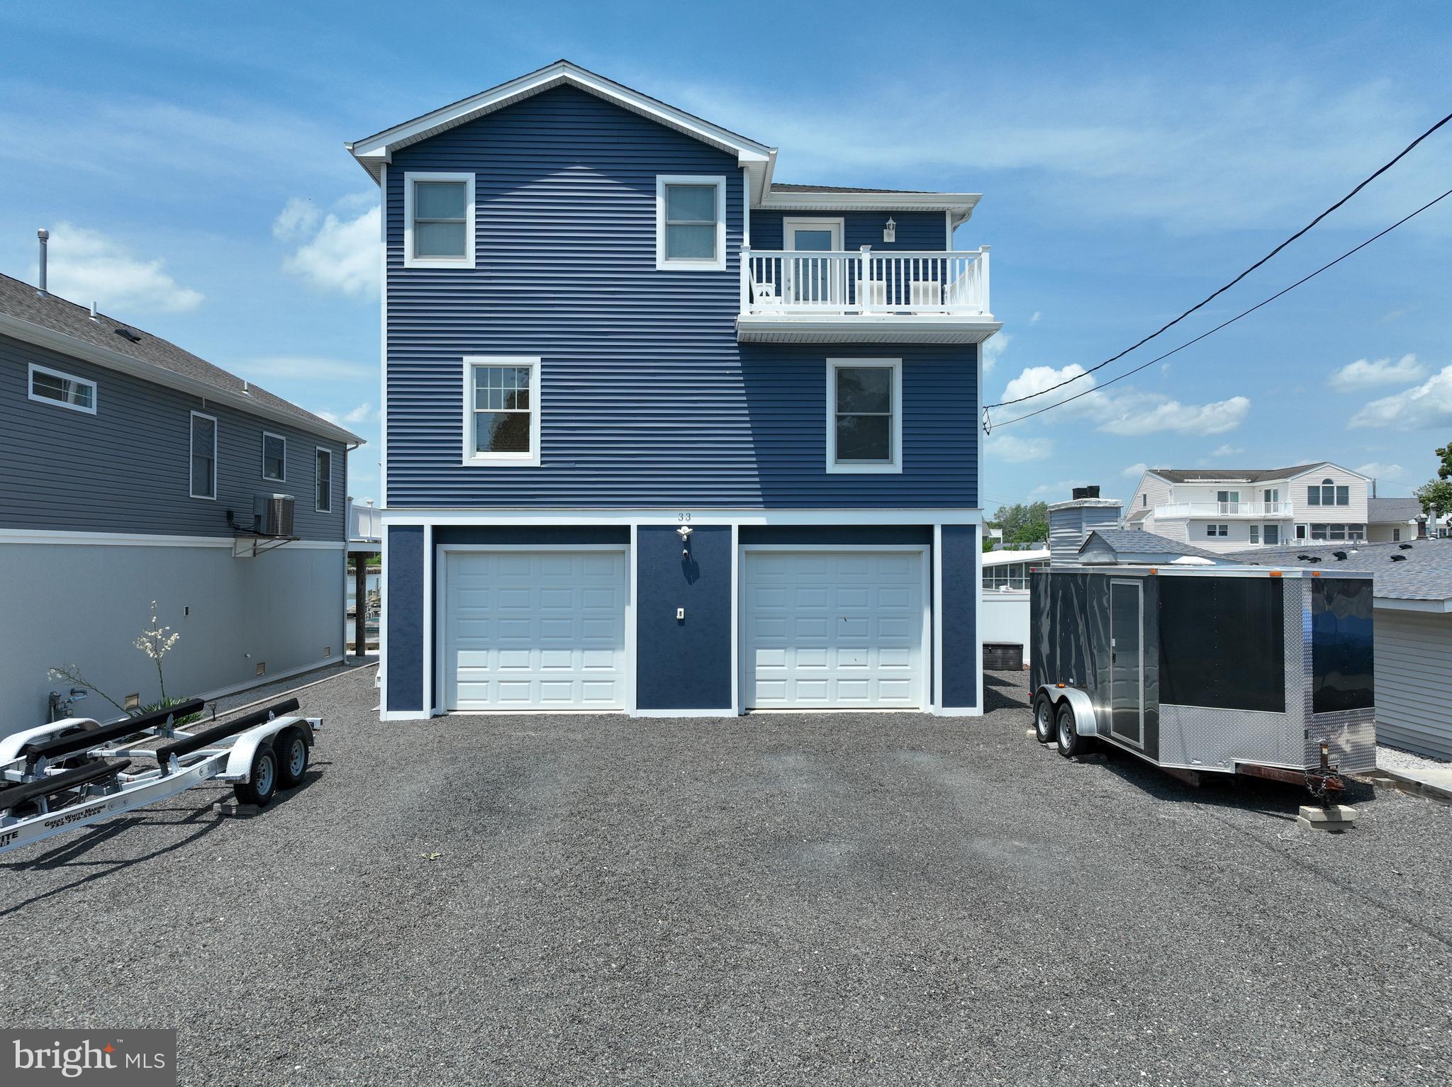
[[[1346,557],[1337,559],[1337,553]],[[1452,705],[1448,702],[1452,540],[1257,547],[1228,557],[1262,566],[1372,573],[1376,740],[1435,759],[1452,759]]]

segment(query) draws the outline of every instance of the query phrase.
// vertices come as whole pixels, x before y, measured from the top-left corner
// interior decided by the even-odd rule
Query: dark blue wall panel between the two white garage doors
[[[636,530],[636,701],[642,710],[729,710],[730,525]],[[675,610],[685,608],[677,620]]]

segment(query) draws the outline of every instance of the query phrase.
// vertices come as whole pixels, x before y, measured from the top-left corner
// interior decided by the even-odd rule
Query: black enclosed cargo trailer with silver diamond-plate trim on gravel
[[[1369,573],[1053,566],[1029,583],[1034,726],[1185,774],[1340,788],[1376,766]]]

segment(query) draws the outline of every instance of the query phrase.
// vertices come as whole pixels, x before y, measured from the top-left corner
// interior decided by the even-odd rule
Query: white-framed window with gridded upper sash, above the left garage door
[[[540,463],[540,360],[463,360],[463,463]]]

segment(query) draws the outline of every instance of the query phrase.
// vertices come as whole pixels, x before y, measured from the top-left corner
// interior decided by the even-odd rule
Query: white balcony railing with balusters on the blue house
[[[915,253],[741,253],[743,313],[989,316],[989,247]]]

